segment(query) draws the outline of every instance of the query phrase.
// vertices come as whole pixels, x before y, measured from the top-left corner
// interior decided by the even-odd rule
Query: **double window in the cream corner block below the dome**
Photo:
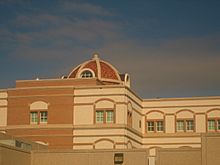
[[[114,110],[96,110],[96,123],[114,123]]]

